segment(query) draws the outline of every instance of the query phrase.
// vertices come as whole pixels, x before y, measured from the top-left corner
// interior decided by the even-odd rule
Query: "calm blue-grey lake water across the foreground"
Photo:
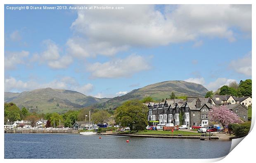
[[[101,137],[5,134],[5,158],[219,158],[231,146],[223,140]]]

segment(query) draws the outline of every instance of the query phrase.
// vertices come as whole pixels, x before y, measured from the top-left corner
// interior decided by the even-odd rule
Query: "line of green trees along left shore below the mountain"
[[[89,121],[89,111],[93,123],[113,123],[111,116],[114,114],[112,109],[100,110],[84,108],[78,111],[69,110],[66,113],[36,113],[29,112],[26,107],[19,109],[14,103],[4,104],[4,123],[14,123],[16,120],[29,120],[30,125],[36,126],[39,119],[47,120],[45,127],[72,127],[76,121]],[[110,119],[109,119],[110,118]],[[60,123],[59,123],[60,122]],[[21,126],[20,126],[21,127]]]

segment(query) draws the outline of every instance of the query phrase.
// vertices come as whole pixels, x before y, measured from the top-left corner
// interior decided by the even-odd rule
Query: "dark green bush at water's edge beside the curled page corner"
[[[241,124],[232,123],[229,125],[229,128],[232,130],[232,132],[235,133],[237,137],[244,137],[246,136],[251,128],[251,122],[247,121]]]

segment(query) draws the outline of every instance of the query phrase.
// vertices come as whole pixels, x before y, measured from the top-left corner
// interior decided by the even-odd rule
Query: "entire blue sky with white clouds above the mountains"
[[[251,5],[34,8],[43,6],[59,5],[5,5],[5,92],[103,98],[168,80],[214,91],[251,78]]]

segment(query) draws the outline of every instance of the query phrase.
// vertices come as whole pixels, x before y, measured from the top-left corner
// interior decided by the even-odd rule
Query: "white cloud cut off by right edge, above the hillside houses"
[[[251,64],[252,64],[251,52],[249,52],[243,58],[232,60],[229,64],[229,67],[237,73],[241,73],[246,76],[251,76],[252,75]]]

